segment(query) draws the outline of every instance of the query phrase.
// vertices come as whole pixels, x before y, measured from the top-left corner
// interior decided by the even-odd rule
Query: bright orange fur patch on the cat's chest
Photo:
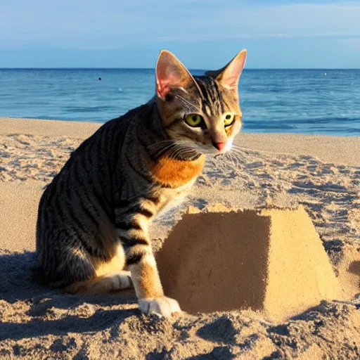
[[[160,184],[178,188],[200,175],[204,164],[204,155],[193,161],[160,158],[153,169],[151,169],[151,174]]]

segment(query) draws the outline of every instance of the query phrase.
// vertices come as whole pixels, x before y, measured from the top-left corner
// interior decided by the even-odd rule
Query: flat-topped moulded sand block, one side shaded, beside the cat
[[[340,296],[302,206],[185,214],[157,258],[166,295],[191,313],[250,308],[283,321]]]

